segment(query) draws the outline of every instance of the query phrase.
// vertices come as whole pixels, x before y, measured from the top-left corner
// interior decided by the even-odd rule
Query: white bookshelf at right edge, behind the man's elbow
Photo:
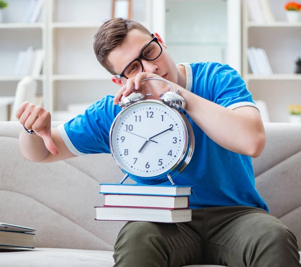
[[[286,21],[286,2],[268,0],[275,17],[271,23],[250,22],[246,0],[242,2],[242,77],[253,99],[265,101],[271,122],[288,122],[287,106],[301,104],[301,74],[294,73],[295,61],[301,57],[301,22]],[[252,74],[248,47],[265,50],[273,74]]]

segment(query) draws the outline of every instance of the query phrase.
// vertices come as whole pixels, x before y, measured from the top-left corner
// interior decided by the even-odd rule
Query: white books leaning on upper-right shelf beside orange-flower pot
[[[246,0],[249,20],[258,24],[275,22],[268,0]]]

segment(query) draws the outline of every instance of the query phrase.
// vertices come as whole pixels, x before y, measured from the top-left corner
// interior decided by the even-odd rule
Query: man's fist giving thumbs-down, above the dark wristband
[[[51,137],[51,115],[44,108],[24,102],[17,110],[16,117],[27,129],[33,129],[41,137],[48,151],[57,155],[59,150]]]

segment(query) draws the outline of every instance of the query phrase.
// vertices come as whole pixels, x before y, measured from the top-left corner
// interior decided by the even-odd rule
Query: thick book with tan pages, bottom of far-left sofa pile
[[[34,248],[34,233],[0,230],[0,247]]]

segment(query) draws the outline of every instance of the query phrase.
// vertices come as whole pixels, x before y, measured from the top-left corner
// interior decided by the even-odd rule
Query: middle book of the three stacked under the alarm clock
[[[181,209],[188,208],[189,197],[104,194],[103,206]]]

